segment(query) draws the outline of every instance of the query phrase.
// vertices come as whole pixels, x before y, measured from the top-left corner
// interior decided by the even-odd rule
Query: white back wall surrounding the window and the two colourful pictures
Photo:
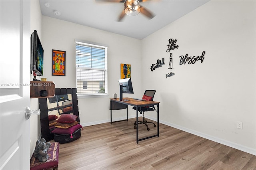
[[[109,96],[78,99],[81,125],[110,122],[109,98],[112,98],[114,93],[119,95],[118,79],[120,79],[121,63],[131,64],[134,87],[134,94],[125,94],[124,97],[142,96],[140,40],[46,16],[42,16],[42,37],[44,77],[47,77],[48,81],[54,81],[56,88],[76,87],[75,39],[100,43],[108,47]],[[66,76],[52,76],[52,49],[66,51]],[[135,117],[136,112],[129,110],[129,116]],[[113,118],[125,116],[126,110],[115,111]]]

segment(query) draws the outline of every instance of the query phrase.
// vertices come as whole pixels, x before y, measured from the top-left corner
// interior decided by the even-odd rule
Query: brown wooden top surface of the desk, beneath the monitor
[[[123,100],[129,100],[129,101],[120,101],[119,98],[111,98],[110,100],[118,102],[118,103],[123,103],[125,105],[131,105],[131,106],[150,106],[150,105],[158,105],[160,102],[158,101],[147,101],[147,100],[136,100],[133,98],[129,97],[123,97]]]

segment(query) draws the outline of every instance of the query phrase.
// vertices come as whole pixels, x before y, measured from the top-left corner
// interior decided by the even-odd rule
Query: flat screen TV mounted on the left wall
[[[44,49],[38,37],[37,31],[31,34],[31,63],[30,63],[30,72],[33,71],[38,76],[43,76],[44,73]]]

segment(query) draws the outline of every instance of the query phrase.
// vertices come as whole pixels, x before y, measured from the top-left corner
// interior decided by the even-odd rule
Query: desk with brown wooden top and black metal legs
[[[137,128],[136,128],[136,142],[138,143],[139,141],[141,140],[145,140],[145,139],[148,139],[148,138],[152,138],[152,137],[159,137],[159,103],[160,102],[157,102],[157,101],[140,101],[140,100],[135,100],[135,99],[132,99],[132,98],[128,98],[128,97],[124,97],[123,100],[129,100],[129,101],[119,101],[119,98],[117,99],[114,99],[114,98],[111,98],[110,99],[110,102],[117,102],[117,103],[122,103],[124,105],[130,105],[130,106],[133,106],[133,107],[136,107],[136,125],[137,125]],[[139,129],[139,126],[138,126],[138,109],[140,107],[146,107],[146,106],[152,106],[152,105],[156,105],[157,106],[157,134],[155,135],[152,135],[152,136],[148,136],[146,138],[141,138],[139,139],[138,138],[138,129]],[[112,110],[111,108],[112,104],[110,104],[110,110]]]

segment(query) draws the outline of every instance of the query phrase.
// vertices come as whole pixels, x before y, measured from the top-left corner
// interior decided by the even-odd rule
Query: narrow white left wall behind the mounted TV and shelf
[[[30,1],[30,32],[34,30],[38,31],[38,36],[42,39],[42,14],[38,0]],[[30,80],[33,80],[33,74],[30,75]],[[38,109],[38,99],[30,99],[30,109]],[[41,127],[40,127],[40,116],[31,116],[30,117],[30,157],[32,156],[36,141],[41,136]]]

